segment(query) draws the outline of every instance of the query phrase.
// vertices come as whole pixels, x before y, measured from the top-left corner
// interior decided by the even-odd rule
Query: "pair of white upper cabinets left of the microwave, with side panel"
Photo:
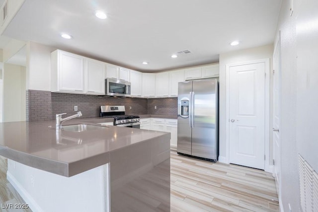
[[[51,91],[104,94],[105,63],[61,50],[52,52]]]

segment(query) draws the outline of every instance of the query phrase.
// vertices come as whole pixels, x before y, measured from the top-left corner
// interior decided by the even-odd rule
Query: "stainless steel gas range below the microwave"
[[[100,117],[114,118],[114,126],[140,128],[140,117],[125,115],[125,106],[100,106]]]

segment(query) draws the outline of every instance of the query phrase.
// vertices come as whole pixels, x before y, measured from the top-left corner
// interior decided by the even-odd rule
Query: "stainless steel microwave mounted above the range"
[[[105,79],[105,95],[107,96],[130,96],[130,82],[113,78]]]

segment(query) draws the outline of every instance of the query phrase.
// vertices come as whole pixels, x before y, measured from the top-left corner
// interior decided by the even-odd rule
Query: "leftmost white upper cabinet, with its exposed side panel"
[[[84,92],[84,58],[56,50],[51,53],[51,91]]]

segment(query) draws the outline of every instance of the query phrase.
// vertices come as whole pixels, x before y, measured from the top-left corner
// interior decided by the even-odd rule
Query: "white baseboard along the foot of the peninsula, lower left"
[[[19,182],[11,175],[9,171],[6,172],[6,179],[11,183],[13,188],[19,193],[24,202],[28,204],[33,212],[42,212],[40,206],[33,200],[29,193],[19,184]]]

